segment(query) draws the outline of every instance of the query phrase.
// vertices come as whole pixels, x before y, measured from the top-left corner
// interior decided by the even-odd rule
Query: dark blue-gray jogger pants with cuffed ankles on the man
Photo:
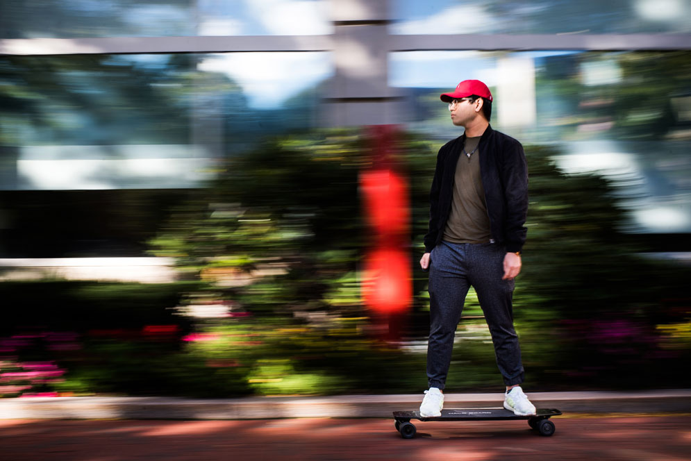
[[[428,387],[444,389],[453,337],[472,285],[490,327],[497,365],[507,386],[523,382],[521,349],[513,327],[513,280],[501,280],[506,250],[494,243],[441,242],[431,252]]]

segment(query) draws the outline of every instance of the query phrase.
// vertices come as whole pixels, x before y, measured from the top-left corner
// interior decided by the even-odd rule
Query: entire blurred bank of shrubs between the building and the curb
[[[4,311],[3,340],[12,347],[22,340],[9,336],[16,326],[38,325],[33,331],[44,336],[15,344],[23,348],[19,359],[59,358],[66,370],[56,377],[62,380],[17,381],[15,389],[189,396],[419,392],[426,385],[428,296],[417,260],[438,147],[400,133],[397,155],[389,159],[408,177],[412,208],[416,294],[408,315],[374,315],[360,296],[360,257],[369,239],[358,172],[377,160],[365,135],[290,135],[228,160],[219,179],[176,208],[151,242],[153,254],[176,258],[187,282],[0,285],[3,301],[13,306]],[[563,174],[551,148],[526,146],[526,155],[528,242],[514,297],[526,385],[687,386],[677,369],[691,359],[688,268],[640,257],[647,248],[620,230],[624,211],[616,206],[616,183]],[[487,328],[482,319],[467,318],[481,310],[472,293],[467,301],[449,389],[497,389],[501,376]],[[225,313],[193,325],[178,316],[205,306]],[[51,331],[59,334],[47,336]],[[43,349],[31,346],[38,343]],[[47,344],[61,344],[63,352],[56,355],[59,348]],[[69,344],[76,349],[67,351]],[[47,350],[53,355],[37,353]],[[31,371],[19,362],[12,367]]]

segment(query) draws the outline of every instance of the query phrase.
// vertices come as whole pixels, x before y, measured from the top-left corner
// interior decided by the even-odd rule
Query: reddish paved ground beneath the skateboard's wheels
[[[691,460],[691,415],[565,415],[541,437],[526,421],[392,419],[0,421],[0,460]]]

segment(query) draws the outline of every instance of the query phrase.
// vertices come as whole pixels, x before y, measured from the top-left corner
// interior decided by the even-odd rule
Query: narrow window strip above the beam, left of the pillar
[[[31,0],[0,3],[0,38],[321,35],[323,0]]]

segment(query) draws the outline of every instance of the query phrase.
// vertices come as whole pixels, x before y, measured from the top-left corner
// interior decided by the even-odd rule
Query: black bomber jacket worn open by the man
[[[429,194],[429,231],[424,237],[426,253],[442,241],[451,211],[456,163],[464,143],[465,133],[444,144],[437,154]],[[528,166],[523,146],[488,126],[480,138],[478,151],[492,240],[506,246],[508,252],[521,251],[526,242],[524,224],[528,213]]]

